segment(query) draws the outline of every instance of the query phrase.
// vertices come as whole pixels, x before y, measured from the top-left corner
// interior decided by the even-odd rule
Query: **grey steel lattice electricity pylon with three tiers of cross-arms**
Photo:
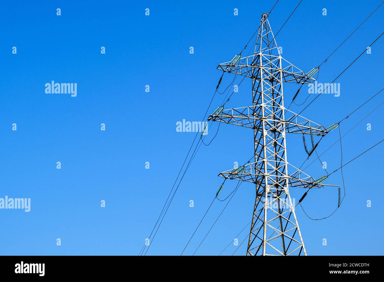
[[[328,130],[284,108],[283,82],[312,83],[318,69],[307,74],[281,57],[266,13],[253,54],[236,55],[217,69],[252,79],[252,106],[228,110],[221,106],[208,118],[254,131],[255,162],[219,174],[256,185],[247,255],[306,255],[289,187],[334,185],[321,183],[326,176],[315,180],[287,162],[285,134],[303,134],[304,142],[305,135],[310,135],[312,149],[308,152],[306,145],[305,149],[311,155],[318,145],[313,137],[323,137]],[[288,167],[293,167],[290,175]]]

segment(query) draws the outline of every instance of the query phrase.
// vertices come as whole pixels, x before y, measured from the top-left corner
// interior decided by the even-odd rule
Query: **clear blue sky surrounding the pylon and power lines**
[[[296,2],[278,2],[269,17],[275,32]],[[274,3],[3,3],[0,198],[31,198],[31,211],[0,209],[0,254],[137,255],[194,138],[193,132],[176,132],[176,122],[202,118],[221,76],[217,65],[241,51],[258,28],[262,13],[269,12]],[[282,56],[309,71],[379,3],[304,0],[276,37]],[[61,8],[61,16],[56,15],[56,8]],[[144,14],[146,8],[149,16]],[[233,15],[234,8],[238,16]],[[321,66],[319,82],[333,81],[382,33],[383,9]],[[323,94],[302,115],[328,126],[381,90],[383,40],[336,81],[339,97]],[[12,54],[13,46],[17,54]],[[101,54],[101,46],[106,54]],[[194,54],[189,53],[190,46]],[[224,76],[221,87],[232,79],[232,74]],[[77,96],[46,94],[45,83],[51,81],[77,83]],[[146,85],[150,92],[145,92]],[[284,86],[285,99],[290,101],[296,90],[295,85]],[[298,102],[304,97],[299,96]],[[216,96],[209,112],[222,99]],[[244,81],[226,107],[250,106],[251,99],[250,81]],[[380,94],[351,115],[340,125],[341,133],[382,101]],[[382,107],[343,138],[344,161],[382,139]],[[13,123],[17,131],[12,130]],[[102,123],[105,131],[100,129]],[[213,137],[217,125],[212,125],[206,140]],[[338,136],[334,130],[324,137],[318,152]],[[148,255],[181,253],[222,183],[218,173],[252,157],[252,138],[252,130],[223,124],[211,145],[200,148]],[[383,253],[380,214],[384,199],[382,185],[377,183],[383,150],[380,145],[344,168],[346,198],[331,218],[311,221],[300,208],[296,210],[308,254]],[[301,136],[288,137],[287,155],[296,167],[305,160]],[[328,171],[338,168],[339,145],[321,160],[327,162]],[[56,162],[61,162],[60,170]],[[145,169],[145,162],[150,169]],[[324,175],[319,161],[305,172],[315,178]],[[340,173],[334,173],[327,183],[342,185]],[[227,181],[220,195],[228,195],[235,184]],[[296,189],[291,188],[292,197],[300,198],[304,191]],[[233,240],[251,219],[253,195],[253,185],[240,186],[196,254],[217,255]],[[370,208],[367,200],[372,201]],[[225,204],[215,201],[184,254],[194,252]],[[337,189],[312,191],[303,206],[313,218],[328,216],[337,206]],[[240,234],[240,242],[247,230]],[[57,238],[61,246],[56,246]],[[245,254],[245,244],[236,255]],[[223,254],[230,255],[235,248],[231,244]]]

